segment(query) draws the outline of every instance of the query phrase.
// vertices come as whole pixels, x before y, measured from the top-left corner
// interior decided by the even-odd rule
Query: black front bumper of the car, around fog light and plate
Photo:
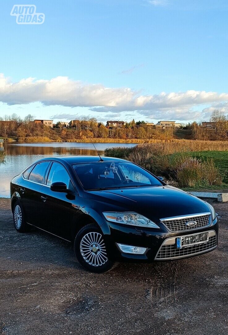
[[[192,234],[209,231],[208,243],[177,248],[176,238],[191,235],[191,231],[170,232],[165,226],[161,229],[141,228],[107,222],[102,226],[107,252],[111,260],[153,262],[193,257],[214,250],[218,245],[217,218],[210,226],[192,231]],[[116,243],[147,248],[143,255],[126,254]]]

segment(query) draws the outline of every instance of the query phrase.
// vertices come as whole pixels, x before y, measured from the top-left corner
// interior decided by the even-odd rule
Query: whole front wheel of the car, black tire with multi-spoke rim
[[[102,232],[95,224],[87,224],[79,230],[74,250],[79,263],[91,272],[107,272],[118,265],[108,259]]]

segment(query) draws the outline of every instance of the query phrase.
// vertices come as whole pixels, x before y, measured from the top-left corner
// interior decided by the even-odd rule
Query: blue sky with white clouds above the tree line
[[[42,24],[17,24],[15,3],[0,3],[2,117],[188,123],[228,113],[227,0],[35,0]]]

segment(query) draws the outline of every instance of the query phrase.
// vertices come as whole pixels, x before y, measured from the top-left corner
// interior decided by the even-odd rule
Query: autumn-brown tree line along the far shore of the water
[[[210,122],[214,129],[202,127],[202,122],[192,122],[182,125],[180,130],[174,127],[165,129],[156,128],[155,125],[146,125],[144,121],[135,122],[134,119],[126,122],[124,126],[116,129],[108,129],[96,118],[83,117],[74,122],[71,127],[64,127],[59,121],[55,128],[51,129],[41,123],[35,123],[31,114],[20,118],[15,113],[0,117],[0,136],[14,137],[48,137],[51,140],[73,140],[84,138],[116,138],[116,139],[171,139],[179,137],[182,132],[184,138],[201,140],[226,140],[228,139],[228,119],[224,112],[214,110]],[[185,132],[186,130],[186,132]],[[188,132],[187,132],[188,130]],[[188,135],[187,135],[188,134]]]

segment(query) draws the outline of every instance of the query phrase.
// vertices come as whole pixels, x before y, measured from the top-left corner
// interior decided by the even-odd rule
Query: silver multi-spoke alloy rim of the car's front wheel
[[[101,266],[108,261],[104,240],[98,232],[89,232],[82,238],[80,252],[92,266]]]

